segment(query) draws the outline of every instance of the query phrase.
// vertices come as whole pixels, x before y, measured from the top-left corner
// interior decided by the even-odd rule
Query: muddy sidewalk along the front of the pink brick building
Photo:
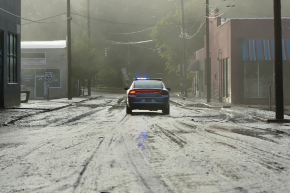
[[[173,92],[171,97],[177,97],[178,102],[182,105],[201,107],[201,108],[212,108],[219,109],[226,114],[231,115],[248,115],[252,119],[257,119],[259,121],[268,122],[268,120],[275,119],[275,106],[272,105],[272,111],[268,110],[268,105],[244,105],[244,104],[231,104],[231,103],[221,103],[217,100],[210,100],[210,103],[206,102],[206,98],[200,98],[192,96],[188,93],[188,97],[184,97],[180,92]],[[184,99],[184,100],[183,100]],[[284,106],[284,119],[285,122],[290,122],[290,107]]]

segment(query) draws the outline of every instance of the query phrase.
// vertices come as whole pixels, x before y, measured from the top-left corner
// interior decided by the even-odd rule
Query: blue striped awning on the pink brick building
[[[290,39],[282,39],[282,58],[290,60]],[[242,41],[242,60],[274,60],[273,39],[249,39]]]

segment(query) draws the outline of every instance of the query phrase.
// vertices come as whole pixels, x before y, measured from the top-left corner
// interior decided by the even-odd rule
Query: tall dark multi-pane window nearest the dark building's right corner
[[[8,83],[17,82],[17,39],[16,35],[8,33],[7,36],[8,46],[7,46],[7,77]]]

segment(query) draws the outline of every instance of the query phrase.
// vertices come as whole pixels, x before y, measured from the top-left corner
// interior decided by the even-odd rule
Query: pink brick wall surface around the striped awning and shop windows
[[[223,19],[223,18],[222,18]],[[218,100],[218,60],[217,49],[220,50],[219,59],[230,58],[230,96],[229,98],[222,97],[223,102],[238,103],[239,101],[239,81],[243,82],[243,72],[239,72],[239,44],[238,38],[242,39],[274,39],[273,19],[268,18],[250,18],[250,19],[238,19],[233,18],[228,20],[222,25],[219,25],[221,18],[209,19],[209,52],[211,57],[211,98]],[[282,18],[282,38],[290,39],[290,19]],[[196,59],[200,61],[206,57],[205,49],[205,37],[204,37],[204,49],[196,52]],[[221,63],[220,63],[221,72]],[[216,79],[214,79],[216,74]],[[222,80],[222,73],[220,73],[220,79]],[[204,96],[206,97],[206,86],[204,86]],[[222,90],[222,82],[220,82],[220,90]],[[242,96],[243,98],[243,96]],[[287,102],[289,100],[285,100]],[[243,103],[263,103],[265,99],[243,99]],[[290,102],[290,101],[289,101]]]

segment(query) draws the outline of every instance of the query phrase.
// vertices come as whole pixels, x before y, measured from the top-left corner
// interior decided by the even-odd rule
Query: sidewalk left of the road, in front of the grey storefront
[[[47,100],[29,100],[27,103],[21,103],[19,106],[0,108],[0,126],[6,126],[24,117],[28,117],[38,113],[44,113],[48,111],[54,111],[62,109],[68,106],[72,106],[73,103],[80,103],[87,101],[96,96],[81,96],[74,97],[72,100],[67,98],[51,99]]]

